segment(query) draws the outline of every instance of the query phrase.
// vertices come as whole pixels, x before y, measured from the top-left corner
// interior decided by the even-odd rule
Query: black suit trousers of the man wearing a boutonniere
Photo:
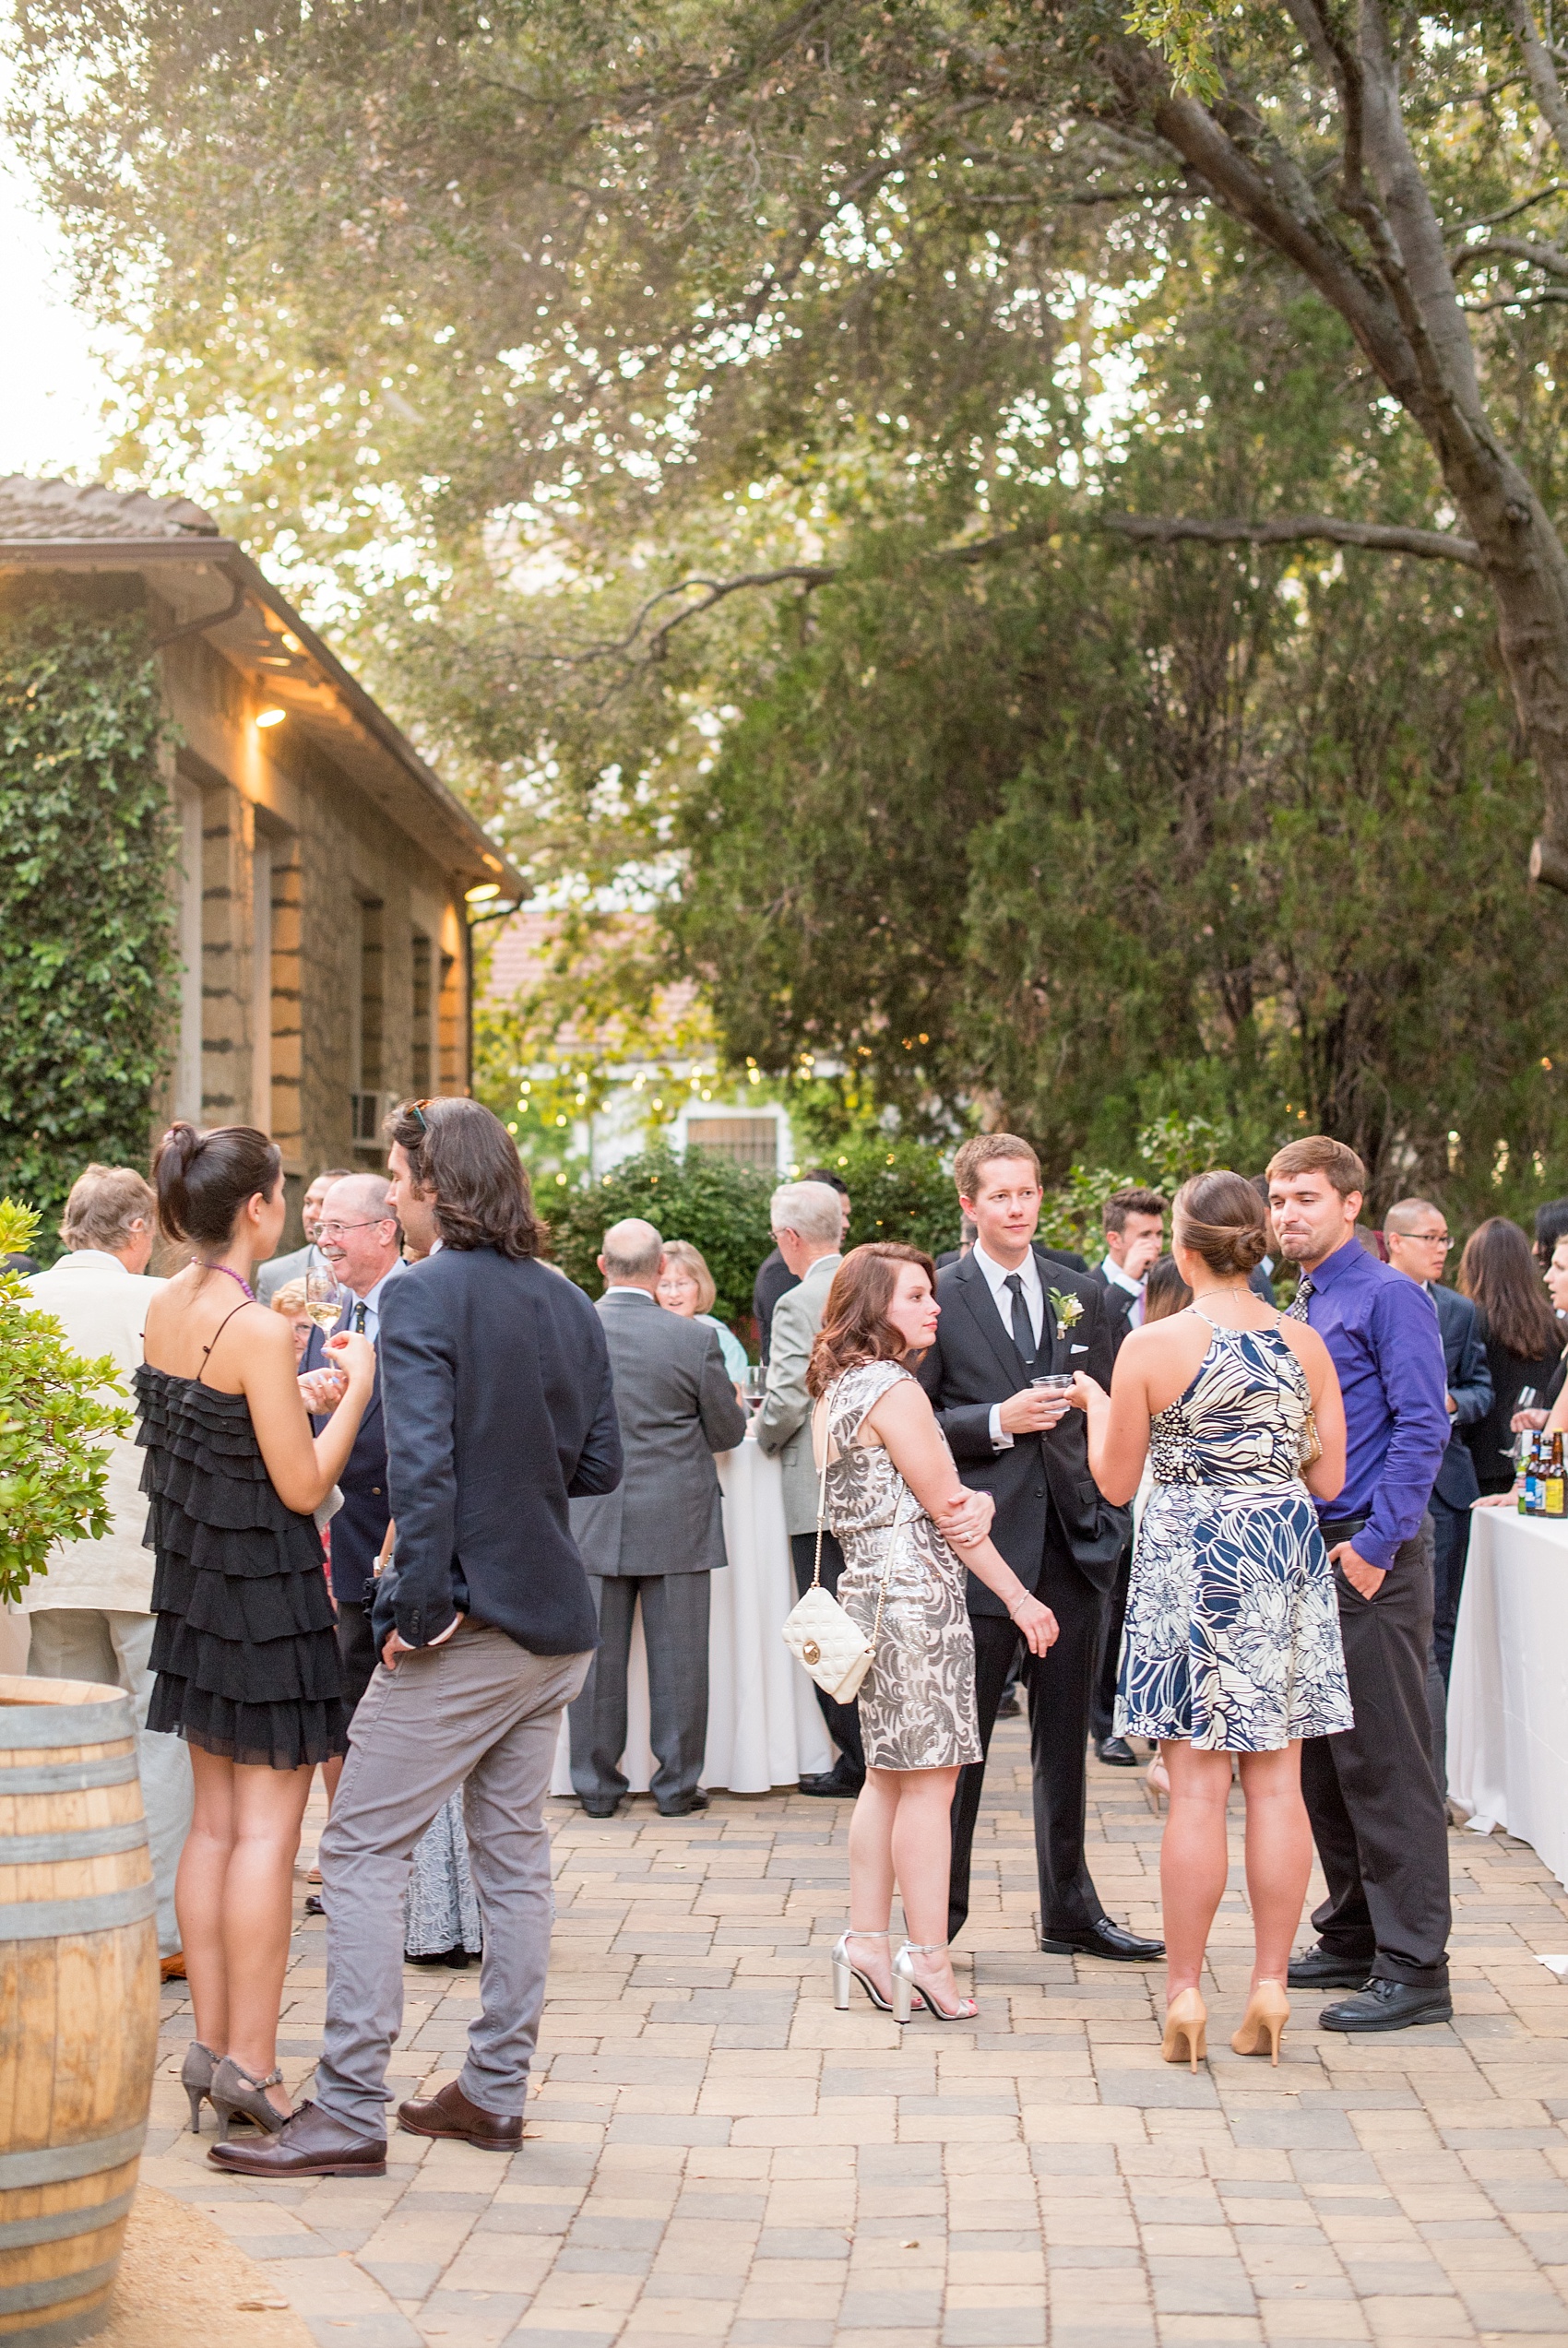
[[[1054,1545],[1035,1597],[1052,1608],[1061,1637],[1049,1655],[1023,1651],[1021,1684],[1028,1688],[1028,1756],[1035,1773],[1035,1862],[1040,1867],[1040,1928],[1080,1930],[1099,1923],[1106,1902],[1084,1864],[1084,1810],[1089,1784],[1089,1688],[1101,1653],[1103,1592],[1082,1578]],[[991,1752],[995,1707],[1019,1651],[1007,1615],[969,1615],[974,1627],[974,1700],[981,1752]],[[948,1939],[958,1939],[969,1914],[969,1860],[986,1763],[958,1773],[953,1794],[953,1876],[948,1883]]]

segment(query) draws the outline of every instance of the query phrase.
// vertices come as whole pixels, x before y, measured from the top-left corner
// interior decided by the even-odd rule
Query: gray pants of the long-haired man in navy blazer
[[[357,2137],[387,2132],[408,1862],[458,1787],[484,1916],[479,2017],[458,2085],[481,2111],[523,2111],[554,1918],[542,1813],[561,1707],[587,1667],[587,1655],[530,1655],[500,1630],[462,1625],[397,1672],[378,1662],[359,1698],[322,1836],[326,2029],[315,2097]]]

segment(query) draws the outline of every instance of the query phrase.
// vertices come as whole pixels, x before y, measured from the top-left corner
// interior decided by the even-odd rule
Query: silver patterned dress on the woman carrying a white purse
[[[859,1684],[869,1766],[962,1768],[981,1759],[965,1568],[925,1510],[908,1505],[913,1493],[883,1444],[857,1442],[866,1413],[899,1378],[908,1371],[897,1362],[861,1362],[831,1390],[829,1428],[838,1456],[829,1463],[826,1500],[845,1552],[838,1604],[869,1639],[876,1632],[876,1660]],[[890,1540],[897,1543],[892,1559]]]

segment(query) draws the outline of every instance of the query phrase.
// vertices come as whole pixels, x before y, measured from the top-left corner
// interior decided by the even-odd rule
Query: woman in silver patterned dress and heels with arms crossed
[[[937,1336],[934,1289],[932,1259],[913,1247],[850,1249],[805,1376],[826,1519],[845,1552],[838,1604],[873,1646],[859,1688],[866,1784],[850,1820],[850,1930],[833,1949],[833,1989],[847,2005],[854,1977],[899,2022],[915,2005],[972,2022],[974,1998],[958,1996],[937,1937],[948,1916],[953,1787],[965,1761],[981,1759],[965,1566],[995,1590],[1035,1655],[1052,1646],[1056,1618],[993,1547],[995,1503],[958,1482],[906,1367]],[[911,1937],[890,1965],[894,1883]]]

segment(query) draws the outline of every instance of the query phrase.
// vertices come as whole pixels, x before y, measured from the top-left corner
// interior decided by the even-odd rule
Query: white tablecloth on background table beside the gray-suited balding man
[[[723,1533],[730,1564],[711,1576],[709,1613],[709,1742],[702,1784],[732,1794],[765,1794],[833,1763],[812,1684],[779,1637],[796,1604],[796,1578],[784,1531],[779,1463],[744,1442],[716,1460],[723,1486]],[[627,1672],[627,1749],[620,1761],[634,1794],[653,1780],[648,1742],[648,1651],[643,1608],[631,1627]],[[566,1721],[556,1747],[552,1794],[570,1794]]]

